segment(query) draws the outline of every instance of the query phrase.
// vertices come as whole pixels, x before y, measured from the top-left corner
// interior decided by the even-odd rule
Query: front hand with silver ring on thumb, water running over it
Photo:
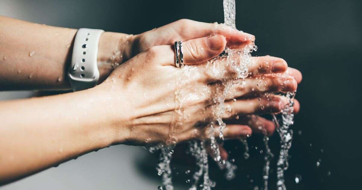
[[[231,42],[237,47],[251,43],[252,41],[248,39],[242,42]],[[104,83],[96,87],[102,92],[111,92],[106,99],[112,102],[108,119],[113,121],[115,134],[117,134],[114,143],[145,145],[170,143],[169,140],[182,142],[195,138],[207,138],[205,128],[196,126],[212,119],[210,107],[214,103],[210,101],[210,98],[217,88],[215,83],[222,78],[212,75],[207,68],[207,63],[204,62],[218,56],[225,46],[226,39],[222,35],[184,42],[185,63],[193,67],[181,69],[174,66],[172,46],[154,46],[115,69]],[[249,71],[252,72],[251,76],[265,74],[268,77],[265,81],[269,79],[269,83],[264,88],[265,92],[296,89],[296,81],[293,77],[272,77],[274,75],[271,75],[286,71],[287,64],[283,59],[266,56],[253,58],[253,60],[248,66]],[[269,67],[265,66],[265,60],[270,63]],[[218,65],[228,71],[228,76],[235,77],[234,71],[228,67],[226,60],[220,59]],[[182,84],[177,84],[180,79],[189,80],[182,80]],[[273,96],[271,102],[264,100],[258,102],[257,98],[231,101],[233,98],[253,94],[249,86],[253,85],[256,79],[251,77],[245,80],[248,88],[234,86],[236,93],[230,94],[226,102],[227,105],[233,107],[235,114],[256,113],[260,110],[258,108],[260,104],[265,107],[263,112],[278,113],[283,105],[287,104],[281,96]],[[278,81],[278,83],[273,83],[273,81]],[[281,84],[283,88],[280,88]],[[175,92],[180,94],[178,96],[181,97],[181,109],[185,118],[181,118],[182,125],[176,124],[170,128],[174,125],[174,118],[179,116],[177,110],[180,105],[175,103]],[[228,127],[225,129],[226,138],[240,138],[251,134],[251,128],[245,128],[244,125],[232,128],[232,130]]]

